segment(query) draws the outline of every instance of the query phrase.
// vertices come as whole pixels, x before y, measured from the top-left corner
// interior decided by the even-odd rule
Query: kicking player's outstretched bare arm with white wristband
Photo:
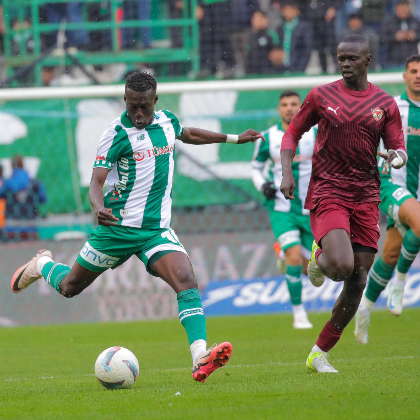
[[[184,132],[177,137],[181,142],[188,144],[212,144],[212,143],[254,143],[257,139],[265,141],[264,136],[255,130],[248,129],[241,134],[222,134],[214,131],[184,127]]]

